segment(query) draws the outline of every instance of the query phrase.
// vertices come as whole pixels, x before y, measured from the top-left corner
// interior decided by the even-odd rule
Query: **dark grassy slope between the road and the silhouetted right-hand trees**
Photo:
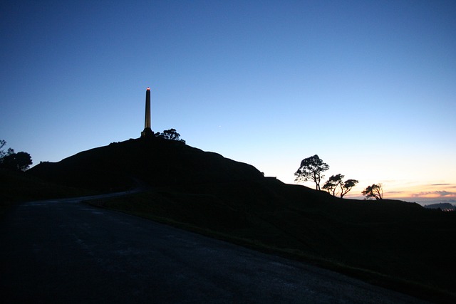
[[[338,199],[274,179],[180,187],[92,204],[311,261],[432,300],[456,299],[456,214]]]

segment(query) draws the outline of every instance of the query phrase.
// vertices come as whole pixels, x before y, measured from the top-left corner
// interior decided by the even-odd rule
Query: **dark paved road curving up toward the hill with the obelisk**
[[[2,303],[422,303],[79,199],[0,223]]]

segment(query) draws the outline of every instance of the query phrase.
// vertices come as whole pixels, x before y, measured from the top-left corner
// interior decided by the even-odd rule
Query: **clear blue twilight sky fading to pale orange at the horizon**
[[[2,1],[0,66],[33,164],[140,137],[150,86],[152,130],[266,176],[456,202],[455,1]]]

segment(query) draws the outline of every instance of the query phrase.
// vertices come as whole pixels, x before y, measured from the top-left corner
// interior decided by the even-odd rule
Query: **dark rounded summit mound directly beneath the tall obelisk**
[[[171,184],[204,184],[264,179],[255,167],[214,152],[203,152],[158,137],[111,143],[60,162],[42,162],[27,171],[71,187],[118,191]]]

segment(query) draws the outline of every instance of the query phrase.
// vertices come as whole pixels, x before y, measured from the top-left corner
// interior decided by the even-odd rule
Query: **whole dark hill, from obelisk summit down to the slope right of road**
[[[142,187],[90,204],[310,261],[434,302],[456,299],[453,212],[388,199],[340,199],[157,137],[112,143],[26,173],[94,192]]]

